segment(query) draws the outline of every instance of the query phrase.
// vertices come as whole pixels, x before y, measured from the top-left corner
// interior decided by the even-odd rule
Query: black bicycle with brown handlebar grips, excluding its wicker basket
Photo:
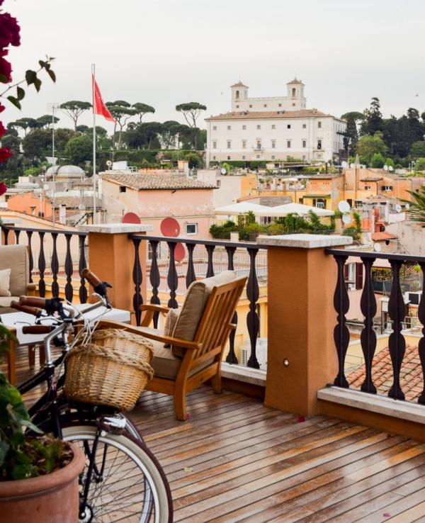
[[[24,394],[47,383],[47,392],[28,409],[31,420],[43,432],[73,442],[84,451],[86,464],[79,477],[79,522],[171,523],[173,505],[168,481],[130,418],[113,407],[70,403],[61,390],[67,354],[91,329],[84,314],[101,306],[111,309],[107,293],[111,286],[89,269],[81,275],[94,287],[94,296],[98,298],[84,312],[60,298],[23,296],[19,302],[13,302],[17,310],[36,317],[35,325],[23,327],[23,334],[47,334],[44,366],[18,389]],[[50,325],[45,325],[46,320]],[[75,334],[77,325],[80,329]],[[72,336],[74,340],[70,342]],[[52,343],[62,348],[55,360]]]

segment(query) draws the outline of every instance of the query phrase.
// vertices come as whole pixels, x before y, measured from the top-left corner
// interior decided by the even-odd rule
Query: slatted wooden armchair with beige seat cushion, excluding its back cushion
[[[165,314],[168,308],[159,305],[142,305],[140,308],[145,312],[140,330],[154,343],[151,364],[155,375],[147,384],[147,390],[173,395],[178,420],[186,420],[186,393],[190,390],[210,379],[215,393],[221,392],[222,354],[229,332],[236,327],[232,325],[232,317],[245,283],[243,277],[212,287],[205,308],[200,311],[200,322],[197,328],[195,325],[193,339],[170,337],[149,328],[154,313]]]

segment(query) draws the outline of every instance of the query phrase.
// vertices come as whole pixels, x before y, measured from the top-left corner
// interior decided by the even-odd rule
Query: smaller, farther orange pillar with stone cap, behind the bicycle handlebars
[[[109,292],[111,304],[115,308],[134,313],[132,299],[135,294],[135,284],[132,274],[135,264],[135,244],[128,235],[132,233],[145,235],[152,230],[152,226],[105,223],[84,225],[81,230],[89,232],[88,264],[91,271],[113,286]],[[140,242],[139,257],[142,268],[141,293],[143,303],[146,303],[147,242],[145,241]]]

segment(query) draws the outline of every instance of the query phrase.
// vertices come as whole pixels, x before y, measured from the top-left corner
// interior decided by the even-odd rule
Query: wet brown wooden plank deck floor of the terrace
[[[23,352],[18,381],[27,369]],[[178,422],[169,396],[145,392],[131,412],[169,478],[175,522],[425,522],[424,444],[208,387],[188,410]]]

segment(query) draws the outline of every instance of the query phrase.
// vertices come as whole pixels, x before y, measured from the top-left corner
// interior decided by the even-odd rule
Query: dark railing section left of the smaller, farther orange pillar
[[[64,296],[72,301],[74,286],[77,287],[75,276],[79,279],[78,295],[81,303],[86,303],[86,281],[80,276],[86,267],[86,232],[59,229],[32,229],[1,225],[4,234],[4,244],[28,245],[30,268],[30,283],[38,283],[38,293],[46,296],[60,295],[60,280],[64,280]],[[46,248],[46,243],[50,248]],[[61,248],[58,247],[59,243]],[[37,244],[37,245],[35,245]],[[47,281],[46,281],[47,278]],[[51,278],[51,283],[50,283]],[[75,288],[77,291],[77,288]]]

